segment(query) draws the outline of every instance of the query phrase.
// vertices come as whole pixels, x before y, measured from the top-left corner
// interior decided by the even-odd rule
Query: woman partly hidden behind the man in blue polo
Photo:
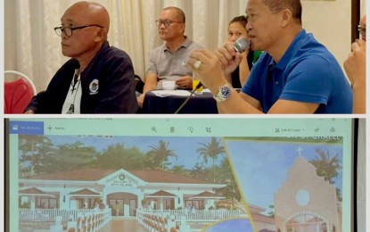
[[[247,29],[245,29],[248,19],[245,16],[237,16],[228,25],[228,41],[234,43],[239,37],[248,37]],[[232,84],[234,88],[241,88],[245,84],[250,75],[253,64],[259,59],[262,52],[251,51],[251,48],[243,52],[243,60],[239,67],[231,73],[227,81]],[[227,77],[226,77],[227,78]]]

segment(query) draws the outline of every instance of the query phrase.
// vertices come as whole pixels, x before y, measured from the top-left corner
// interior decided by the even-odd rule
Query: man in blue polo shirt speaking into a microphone
[[[250,0],[246,13],[251,48],[266,53],[240,94],[224,78],[242,59],[232,44],[216,54],[196,51],[187,63],[210,88],[218,112],[351,113],[349,81],[333,54],[302,29],[299,0]]]

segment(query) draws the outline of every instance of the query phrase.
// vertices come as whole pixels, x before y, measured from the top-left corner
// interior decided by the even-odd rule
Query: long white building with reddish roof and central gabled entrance
[[[215,191],[226,185],[163,170],[71,170],[19,179],[22,203],[30,208],[92,209],[102,201],[119,216],[136,216],[136,209],[176,210],[191,204],[197,210],[214,207]]]

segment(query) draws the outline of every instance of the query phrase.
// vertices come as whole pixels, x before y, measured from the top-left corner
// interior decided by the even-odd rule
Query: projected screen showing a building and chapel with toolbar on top
[[[353,126],[236,116],[7,119],[7,227],[352,231]]]

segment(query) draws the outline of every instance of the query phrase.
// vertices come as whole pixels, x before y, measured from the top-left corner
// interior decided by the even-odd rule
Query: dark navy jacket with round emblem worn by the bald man
[[[26,111],[62,113],[79,63],[72,58],[58,70],[45,91],[35,95]],[[81,113],[136,113],[134,68],[122,50],[105,42],[81,73]]]

